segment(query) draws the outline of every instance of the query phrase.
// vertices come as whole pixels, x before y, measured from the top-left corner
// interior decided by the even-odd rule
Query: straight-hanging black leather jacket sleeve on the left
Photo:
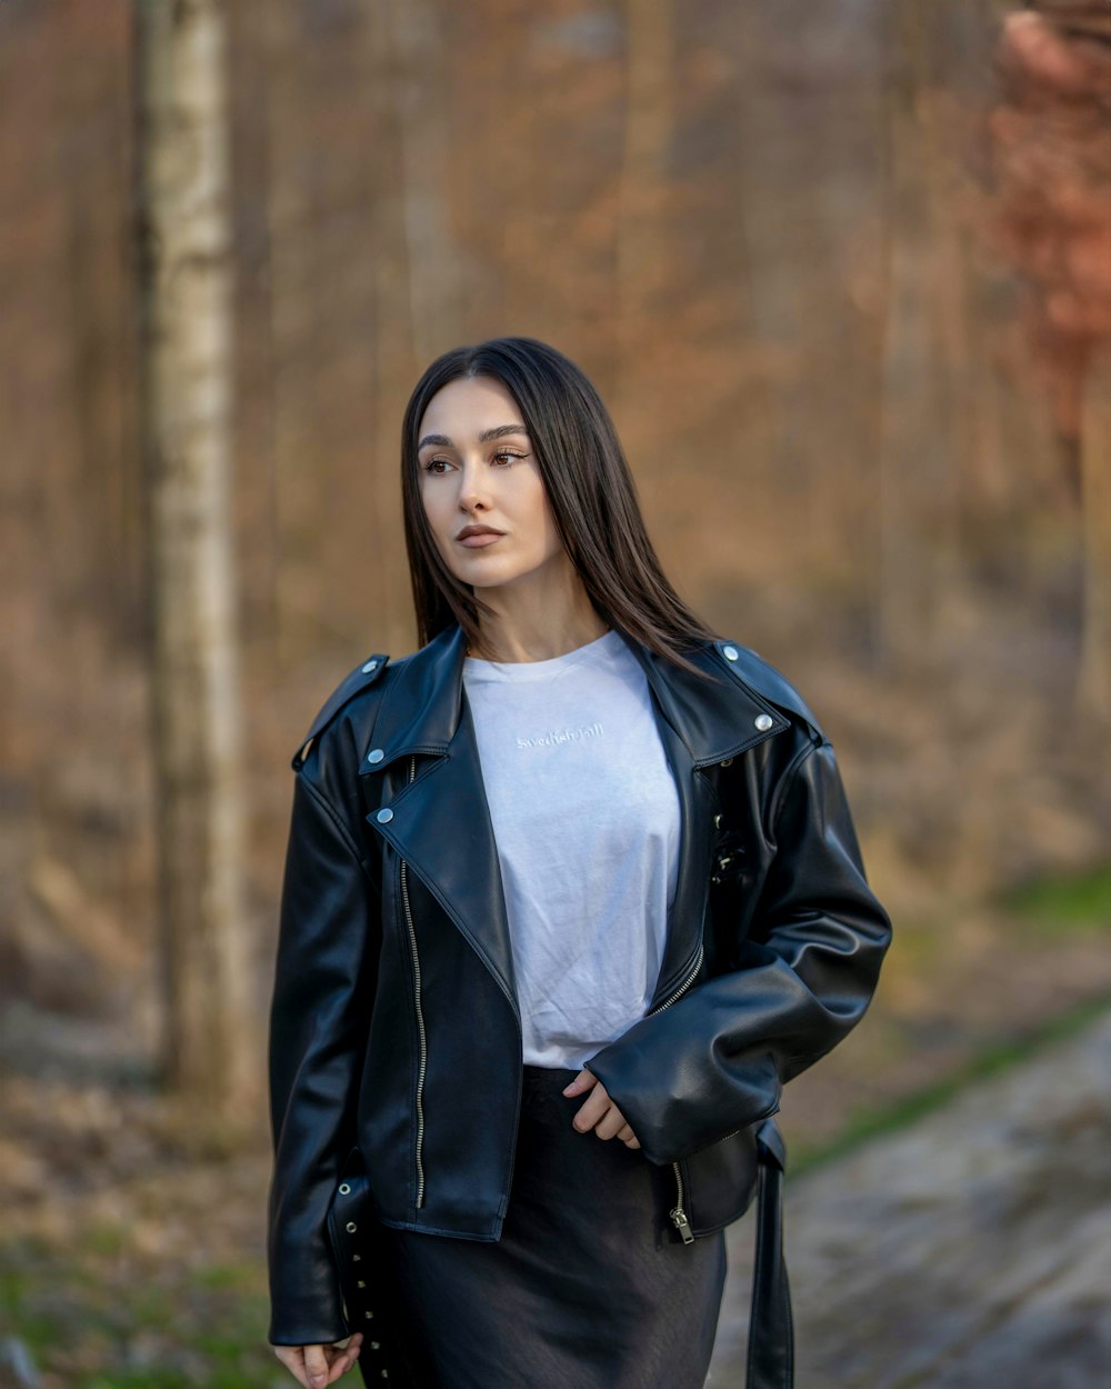
[[[354,1143],[378,910],[365,850],[299,771],[269,1017],[272,1345],[325,1345],[349,1333],[326,1215]]]

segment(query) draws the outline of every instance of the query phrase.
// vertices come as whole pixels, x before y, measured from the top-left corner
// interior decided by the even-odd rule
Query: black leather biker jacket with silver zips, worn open
[[[644,1156],[674,1165],[689,1238],[749,1206],[760,1121],[862,1017],[890,922],[833,749],[783,676],[728,642],[693,653],[705,679],[626,640],[680,858],[651,1008],[589,1070]],[[353,1150],[387,1225],[493,1240],[506,1215],[521,1024],[464,654],[451,628],[371,658],[293,757],[269,1045],[276,1345],[357,1329],[329,1239]]]

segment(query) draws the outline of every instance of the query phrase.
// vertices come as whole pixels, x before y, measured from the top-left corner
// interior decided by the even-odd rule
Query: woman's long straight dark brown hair
[[[401,425],[401,496],[421,644],[453,622],[478,644],[489,608],[444,564],[421,501],[417,443],[429,400],[460,376],[493,376],[532,440],[556,528],[597,613],[685,669],[683,651],[714,633],[668,582],[649,539],[614,422],[585,372],[535,338],[492,338],[437,357],[414,388]]]

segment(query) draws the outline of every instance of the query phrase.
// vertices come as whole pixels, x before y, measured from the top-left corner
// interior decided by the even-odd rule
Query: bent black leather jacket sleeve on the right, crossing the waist
[[[774,1114],[782,1086],[864,1015],[890,943],[832,746],[785,774],[772,858],[736,968],[649,1014],[587,1063],[653,1163]]]

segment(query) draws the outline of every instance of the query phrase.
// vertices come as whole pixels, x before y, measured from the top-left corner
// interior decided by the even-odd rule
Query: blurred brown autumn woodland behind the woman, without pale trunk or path
[[[525,333],[586,369],[679,589],[839,749],[896,942],[865,1022],[789,1090],[800,1161],[1111,999],[1105,3],[190,0],[161,8],[226,39],[207,61],[247,1060],[237,1125],[182,1099],[144,7],[0,3],[0,1383],[19,1389],[282,1382],[260,1086],[289,758],[351,667],[412,649],[401,411],[458,343]]]

